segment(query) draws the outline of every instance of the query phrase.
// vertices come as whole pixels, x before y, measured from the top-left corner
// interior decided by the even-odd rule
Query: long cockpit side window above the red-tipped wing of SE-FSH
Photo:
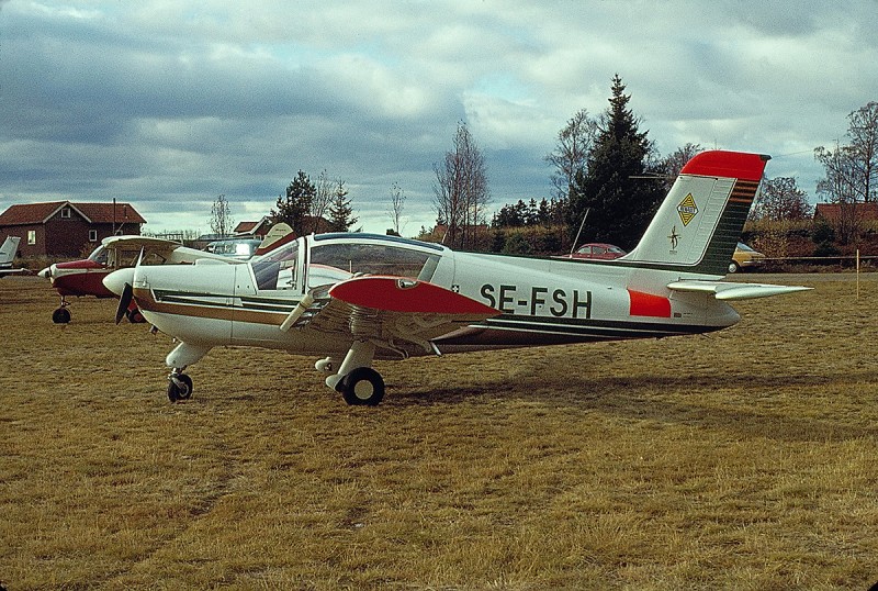
[[[390,275],[428,281],[439,255],[386,244],[326,244],[311,250],[308,287],[337,283],[357,275]]]

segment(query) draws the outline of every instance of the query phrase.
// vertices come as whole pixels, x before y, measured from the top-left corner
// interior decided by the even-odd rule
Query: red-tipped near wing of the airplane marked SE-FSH
[[[346,334],[407,357],[412,347],[437,353],[431,339],[500,314],[465,296],[427,281],[354,277],[311,292],[311,313],[294,327]]]

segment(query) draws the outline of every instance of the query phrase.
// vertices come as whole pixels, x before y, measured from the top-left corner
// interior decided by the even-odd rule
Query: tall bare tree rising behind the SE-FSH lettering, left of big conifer
[[[485,223],[489,194],[485,158],[465,123],[458,124],[453,149],[434,170],[437,222],[448,226],[444,242],[452,247],[471,246],[476,225]]]

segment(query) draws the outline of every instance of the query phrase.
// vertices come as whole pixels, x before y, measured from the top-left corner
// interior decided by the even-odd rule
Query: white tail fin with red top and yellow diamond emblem
[[[640,243],[620,261],[722,277],[770,156],[713,150],[679,171]]]

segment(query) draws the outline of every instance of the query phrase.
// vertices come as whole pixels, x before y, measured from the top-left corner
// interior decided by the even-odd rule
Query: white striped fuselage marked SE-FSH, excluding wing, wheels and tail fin
[[[357,253],[351,260],[333,265],[322,261],[322,249],[350,245],[351,241],[367,255]],[[305,272],[296,274],[281,289],[275,278],[260,278],[263,268],[259,261],[233,266],[200,263],[185,268],[139,267],[134,297],[148,322],[185,343],[337,355],[348,350],[350,338],[340,339],[307,323],[289,331],[280,326],[309,290],[363,272],[357,270],[358,265],[381,271],[381,257],[387,253],[396,256],[398,250],[398,257],[409,265],[412,279],[420,277],[499,312],[436,338],[436,349],[413,347],[406,355],[696,334],[739,320],[731,306],[711,297],[672,297],[663,285],[679,279],[679,272],[668,274],[666,280],[656,281],[655,290],[644,292],[628,288],[638,268],[614,263],[455,253],[368,235],[302,237],[297,243],[294,263]],[[368,255],[370,248],[378,249],[374,257]],[[370,261],[358,260],[358,256]],[[387,270],[399,275],[398,269]],[[323,303],[318,299],[312,309],[319,310]],[[397,355],[379,349],[378,356]]]

